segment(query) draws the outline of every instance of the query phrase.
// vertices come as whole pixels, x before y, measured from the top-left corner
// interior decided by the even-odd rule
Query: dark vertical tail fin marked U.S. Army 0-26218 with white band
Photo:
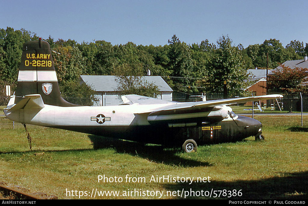
[[[78,106],[61,96],[49,43],[41,39],[25,42],[22,48],[15,104],[27,94],[40,94],[47,105]]]

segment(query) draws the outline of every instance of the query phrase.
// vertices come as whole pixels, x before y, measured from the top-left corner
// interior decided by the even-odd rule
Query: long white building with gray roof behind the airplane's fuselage
[[[143,76],[144,80],[158,86],[160,91],[157,98],[172,101],[173,90],[160,76]],[[118,84],[113,75],[80,75],[80,84],[87,84],[95,90],[96,98],[99,100],[96,106],[108,106],[123,104],[118,97]],[[153,94],[154,95],[154,94]]]

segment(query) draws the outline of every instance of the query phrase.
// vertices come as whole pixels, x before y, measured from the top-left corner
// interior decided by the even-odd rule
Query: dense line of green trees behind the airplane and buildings
[[[25,29],[0,29],[0,85],[4,87],[1,91],[5,92],[6,84],[14,89],[22,45],[38,38]],[[141,76],[148,70],[153,76],[162,76],[176,91],[222,93],[226,81],[230,95],[239,94],[249,84],[244,81],[248,78],[247,69],[266,67],[267,53],[270,68],[286,60],[303,59],[308,53],[308,44],[298,40],[284,47],[279,40],[269,39],[244,48],[241,44],[234,45],[228,35],[219,37],[216,43],[205,39],[191,45],[173,35],[164,46],[133,42],[112,45],[104,40],[78,43],[71,39],[54,40],[51,36],[43,40],[55,51],[53,58],[61,92],[80,97],[94,94],[91,88],[79,85],[80,75]]]

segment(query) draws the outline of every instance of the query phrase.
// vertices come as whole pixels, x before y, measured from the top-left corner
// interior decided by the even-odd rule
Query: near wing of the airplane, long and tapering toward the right
[[[176,110],[176,109],[189,109],[189,108],[203,109],[206,107],[231,105],[235,103],[242,103],[242,102],[248,102],[248,101],[261,101],[261,100],[276,99],[276,98],[282,98],[282,97],[283,96],[281,94],[269,94],[269,95],[254,96],[254,97],[239,97],[239,98],[231,98],[231,99],[218,99],[218,100],[197,101],[197,102],[171,102],[173,104],[160,107],[157,109],[150,109],[147,111],[140,112],[138,114],[152,113],[156,111]]]

